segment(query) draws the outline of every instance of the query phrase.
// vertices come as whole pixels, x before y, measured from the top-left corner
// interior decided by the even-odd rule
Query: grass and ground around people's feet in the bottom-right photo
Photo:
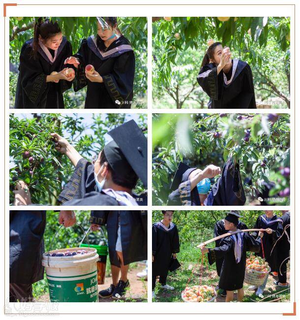
[[[160,284],[157,283],[155,287],[156,298],[152,299],[153,302],[183,302],[181,299],[181,291],[187,285],[187,282],[190,279],[189,286],[199,285],[200,283],[200,265],[201,259],[198,266],[195,268],[195,265],[201,255],[199,249],[191,243],[182,243],[180,246],[180,253],[177,258],[180,261],[181,267],[176,272],[169,273],[167,284],[174,287],[174,291],[161,289]],[[194,274],[192,274],[192,270]],[[289,274],[289,264],[288,264],[288,274]],[[203,267],[202,274],[202,285],[213,285],[214,287],[218,284],[219,277],[217,276],[215,264],[209,266],[207,255],[205,256],[205,262]],[[289,279],[288,279],[289,280]],[[273,285],[274,278],[269,275],[268,283],[264,292],[264,297],[271,295],[270,297],[264,299],[264,302],[274,300],[276,298],[281,298],[279,302],[289,302],[290,301],[290,290],[282,291],[285,288],[275,287]],[[255,291],[247,290],[249,286],[244,284],[244,299],[243,302],[255,302],[260,301],[262,298],[255,295]],[[225,302],[225,297],[217,297],[217,302]],[[237,301],[237,296],[235,294],[234,301]]]

